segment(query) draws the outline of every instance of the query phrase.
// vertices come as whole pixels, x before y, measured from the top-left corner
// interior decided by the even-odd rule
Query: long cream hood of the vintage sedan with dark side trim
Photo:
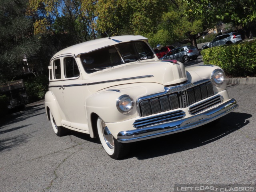
[[[152,82],[171,86],[187,80],[185,67],[181,62],[167,61],[136,62],[115,66],[90,74],[86,80],[88,89],[96,92],[112,86],[139,82]]]

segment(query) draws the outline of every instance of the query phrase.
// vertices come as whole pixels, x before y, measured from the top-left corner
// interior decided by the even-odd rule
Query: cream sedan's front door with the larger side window
[[[85,100],[88,89],[80,73],[76,58],[62,56],[63,82],[62,92],[67,109],[68,121],[63,122],[72,128],[88,131]]]

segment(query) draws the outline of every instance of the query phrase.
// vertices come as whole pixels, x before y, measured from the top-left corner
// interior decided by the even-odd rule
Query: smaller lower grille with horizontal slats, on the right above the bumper
[[[188,110],[188,112],[192,115],[197,114],[203,110],[206,110],[207,108],[210,108],[216,104],[219,104],[223,101],[223,97],[220,95],[214,96],[208,100],[205,100],[203,102],[200,102],[194,106],[191,106]]]

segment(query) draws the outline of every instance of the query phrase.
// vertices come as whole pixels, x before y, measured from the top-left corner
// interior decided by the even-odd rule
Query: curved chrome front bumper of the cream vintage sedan
[[[150,127],[139,128],[136,130],[121,131],[117,135],[117,140],[122,143],[136,142],[150,138],[156,138],[164,135],[169,135],[177,132],[182,132],[192,128],[196,128],[212,122],[238,107],[235,99],[220,104],[213,109],[194,115],[189,118],[184,118],[164,124],[157,124]]]

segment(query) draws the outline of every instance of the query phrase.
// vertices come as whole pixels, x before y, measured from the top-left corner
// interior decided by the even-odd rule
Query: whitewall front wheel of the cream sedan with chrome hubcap
[[[118,142],[100,117],[97,120],[97,130],[100,142],[111,158],[120,159],[128,153],[128,145]]]

